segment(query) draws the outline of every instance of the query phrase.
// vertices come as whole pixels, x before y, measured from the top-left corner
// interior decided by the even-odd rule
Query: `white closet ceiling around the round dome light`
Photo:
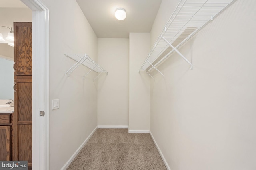
[[[128,38],[130,32],[150,32],[162,0],[76,0],[98,38]],[[124,8],[126,19],[114,16]]]

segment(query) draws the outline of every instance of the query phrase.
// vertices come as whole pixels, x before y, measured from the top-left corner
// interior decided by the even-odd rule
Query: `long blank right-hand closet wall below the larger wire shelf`
[[[179,49],[193,70],[174,53],[152,80],[150,131],[172,170],[256,169],[255,9],[237,0]]]

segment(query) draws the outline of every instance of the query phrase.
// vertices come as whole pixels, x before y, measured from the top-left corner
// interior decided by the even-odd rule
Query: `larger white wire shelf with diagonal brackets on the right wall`
[[[176,51],[193,69],[193,64],[177,48],[199,31],[209,21],[235,0],[180,0],[178,6],[166,23],[162,33],[154,43],[140,70],[149,73],[157,69],[167,57]],[[164,74],[162,74],[164,76]]]

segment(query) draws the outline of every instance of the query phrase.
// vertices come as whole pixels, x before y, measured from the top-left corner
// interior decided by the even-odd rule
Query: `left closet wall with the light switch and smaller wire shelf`
[[[97,37],[76,1],[42,0],[50,12],[50,102],[60,99],[60,109],[50,110],[50,170],[59,170],[97,126],[97,83],[91,72],[64,54],[86,53],[97,61]],[[50,107],[51,107],[50,103]]]

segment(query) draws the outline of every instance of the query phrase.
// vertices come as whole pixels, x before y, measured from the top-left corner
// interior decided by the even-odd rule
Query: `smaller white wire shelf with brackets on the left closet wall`
[[[91,71],[97,72],[97,73],[106,73],[108,74],[108,72],[106,70],[104,70],[101,66],[99,66],[99,64],[97,64],[94,60],[92,60],[88,55],[86,54],[72,54],[72,55],[67,55],[65,54],[67,57],[69,57],[70,59],[73,59],[74,61],[76,61],[76,64],[74,64],[68,71],[65,72],[65,76],[70,76],[70,74],[81,64],[83,66],[86,66],[87,68],[90,69],[90,71],[88,71],[86,74],[84,74],[83,78],[85,78]],[[98,74],[98,76],[100,76],[100,74]],[[96,78],[98,78],[98,76],[96,76],[93,80],[95,80]]]

